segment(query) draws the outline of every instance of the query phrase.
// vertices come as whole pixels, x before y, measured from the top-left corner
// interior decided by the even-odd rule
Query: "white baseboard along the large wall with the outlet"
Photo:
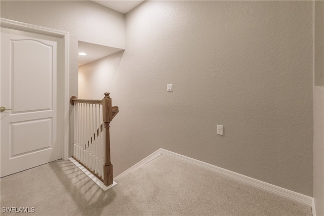
[[[136,163],[131,168],[124,171],[122,174],[118,175],[117,177],[126,174],[126,172],[128,172],[128,171],[130,171],[132,169],[136,169],[136,168],[148,163],[149,161],[153,160],[154,158],[156,158],[156,157],[158,157],[160,155],[168,155],[168,156],[171,156],[171,157],[175,157],[175,158],[187,161],[189,163],[193,163],[193,164],[196,164],[198,166],[205,167],[207,169],[213,170],[213,171],[215,171],[215,172],[217,172],[219,174],[225,175],[225,176],[227,176],[229,178],[235,179],[235,180],[237,180],[239,182],[242,182],[244,184],[247,184],[247,185],[250,185],[250,186],[253,186],[253,187],[256,187],[256,188],[260,188],[260,189],[265,190],[265,191],[268,191],[268,192],[270,192],[272,194],[276,194],[278,196],[281,196],[281,197],[284,197],[284,198],[287,198],[287,199],[302,203],[304,205],[311,206],[312,208],[314,206],[313,197],[306,196],[304,194],[300,194],[300,193],[297,193],[297,192],[294,192],[294,191],[291,191],[291,190],[288,190],[288,189],[285,189],[285,188],[281,188],[281,187],[278,187],[278,186],[275,186],[275,185],[271,185],[269,183],[262,182],[260,180],[253,179],[253,178],[238,174],[236,172],[233,172],[233,171],[230,171],[230,170],[227,170],[227,169],[224,169],[224,168],[221,168],[221,167],[209,164],[209,163],[205,163],[203,161],[199,161],[199,160],[196,160],[196,159],[193,159],[193,158],[181,155],[181,154],[177,154],[177,153],[165,150],[165,149],[158,149],[157,151],[153,152],[151,155],[147,156],[146,158],[144,158],[140,162]],[[315,212],[315,207],[313,208],[313,212]],[[313,215],[315,215],[315,214],[313,214]]]

